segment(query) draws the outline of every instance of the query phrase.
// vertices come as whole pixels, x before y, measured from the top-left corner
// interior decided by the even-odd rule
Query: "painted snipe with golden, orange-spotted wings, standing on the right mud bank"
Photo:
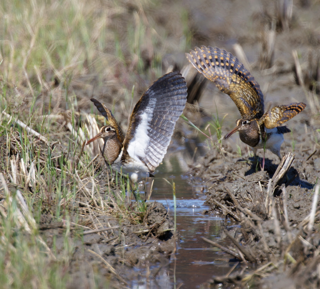
[[[224,93],[228,94],[240,111],[241,118],[236,127],[225,138],[239,131],[240,140],[257,149],[269,149],[281,160],[280,146],[283,134],[290,132],[286,126],[279,126],[300,113],[303,102],[278,105],[264,113],[263,94],[244,65],[230,52],[218,47],[195,47],[186,53],[192,65]]]

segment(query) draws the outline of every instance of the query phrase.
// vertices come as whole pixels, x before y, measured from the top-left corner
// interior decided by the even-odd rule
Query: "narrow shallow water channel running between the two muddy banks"
[[[202,240],[206,237],[228,245],[221,241],[222,227],[231,224],[226,224],[220,216],[203,214],[209,207],[204,205],[202,183],[199,181],[198,185],[191,185],[186,176],[187,168],[183,169],[179,164],[177,156],[165,157],[163,167],[156,172],[150,198],[150,201],[163,203],[173,216],[172,187],[163,178],[170,183],[175,182],[177,229],[181,236],[177,253],[166,264],[145,264],[136,268],[137,279],[132,280],[131,288],[201,288],[201,284],[212,276],[226,275],[235,264],[228,262],[229,255],[218,248],[210,249],[211,245]],[[239,229],[234,226],[231,230]]]

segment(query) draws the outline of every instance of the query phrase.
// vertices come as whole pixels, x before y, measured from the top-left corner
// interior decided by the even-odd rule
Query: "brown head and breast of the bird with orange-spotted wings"
[[[226,134],[225,138],[227,139],[237,131],[239,131],[240,139],[250,146],[255,146],[260,140],[260,129],[257,119],[238,119],[236,127]]]

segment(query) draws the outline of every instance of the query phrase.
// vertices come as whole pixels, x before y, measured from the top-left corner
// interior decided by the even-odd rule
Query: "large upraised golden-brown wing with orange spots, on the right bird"
[[[241,116],[260,118],[264,112],[263,94],[244,65],[230,52],[218,47],[195,47],[186,53],[192,65],[235,102]]]

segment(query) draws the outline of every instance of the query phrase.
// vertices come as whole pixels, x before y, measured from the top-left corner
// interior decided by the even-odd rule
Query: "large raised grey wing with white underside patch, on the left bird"
[[[167,152],[186,101],[187,83],[179,71],[173,71],[156,80],[133,108],[124,147],[151,172]]]

